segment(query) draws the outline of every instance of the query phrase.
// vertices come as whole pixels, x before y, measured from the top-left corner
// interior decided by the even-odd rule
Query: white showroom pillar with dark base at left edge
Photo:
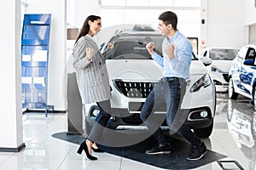
[[[20,151],[22,137],[20,0],[4,1],[0,7],[2,22],[0,51],[0,151]]]

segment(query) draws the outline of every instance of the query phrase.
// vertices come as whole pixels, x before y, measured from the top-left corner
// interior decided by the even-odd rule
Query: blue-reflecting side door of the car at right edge
[[[255,49],[254,48],[247,48],[247,54],[243,60],[243,65],[240,68],[240,81],[241,81],[241,91],[242,93],[253,99],[253,81],[255,75]],[[245,62],[246,61],[246,62]]]

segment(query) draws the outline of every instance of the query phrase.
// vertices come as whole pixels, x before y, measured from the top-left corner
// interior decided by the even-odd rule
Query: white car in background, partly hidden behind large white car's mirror
[[[239,48],[204,48],[201,51],[201,58],[212,60],[211,65],[207,65],[212,81],[215,82],[216,91],[227,91],[229,88],[229,71],[231,62],[235,59]]]

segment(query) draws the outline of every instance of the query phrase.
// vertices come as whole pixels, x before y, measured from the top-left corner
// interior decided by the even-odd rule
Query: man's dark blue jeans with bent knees
[[[166,123],[171,130],[183,136],[193,145],[201,143],[201,140],[191,131],[190,127],[183,123],[187,118],[187,111],[181,110],[180,106],[186,92],[186,86],[187,82],[183,78],[164,77],[148,94],[140,117],[159,144],[165,144],[166,140],[160,129],[161,122],[156,122],[152,114],[163,104],[166,105]]]

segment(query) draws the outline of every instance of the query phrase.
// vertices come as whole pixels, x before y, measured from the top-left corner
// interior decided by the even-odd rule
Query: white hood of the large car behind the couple
[[[151,59],[108,59],[108,75],[111,80],[159,81],[163,77],[163,67]],[[199,60],[192,60],[190,75],[204,75],[206,68]]]

